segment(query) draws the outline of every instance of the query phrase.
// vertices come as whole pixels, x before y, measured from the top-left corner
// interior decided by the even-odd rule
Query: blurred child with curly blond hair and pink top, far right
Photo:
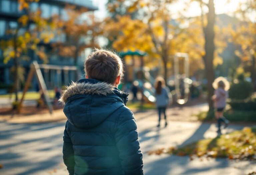
[[[221,134],[221,123],[223,122],[224,128],[228,126],[229,121],[223,116],[223,111],[226,107],[226,99],[228,98],[229,82],[224,77],[218,77],[213,82],[213,88],[215,89],[212,100],[215,107],[215,118],[218,123],[218,133]]]

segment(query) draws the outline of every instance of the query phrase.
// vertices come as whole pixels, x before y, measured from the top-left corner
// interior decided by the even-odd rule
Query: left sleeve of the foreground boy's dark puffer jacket
[[[74,166],[75,166],[75,160],[74,160],[74,151],[73,151],[73,144],[71,142],[70,136],[67,132],[67,124],[66,122],[65,130],[64,130],[64,136],[63,136],[63,161],[64,164],[67,166],[67,170],[69,175],[74,174]]]

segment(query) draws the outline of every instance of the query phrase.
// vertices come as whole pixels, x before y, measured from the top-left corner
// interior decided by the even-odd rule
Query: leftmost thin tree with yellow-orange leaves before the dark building
[[[54,34],[51,32],[52,28],[57,24],[49,19],[41,17],[41,11],[31,12],[29,4],[31,2],[38,2],[39,0],[19,0],[19,10],[24,11],[17,20],[17,26],[11,28],[6,32],[6,38],[0,41],[1,48],[4,51],[4,63],[10,59],[14,59],[14,91],[15,101],[18,101],[19,82],[24,80],[24,70],[20,66],[21,61],[28,59],[28,51],[34,51],[39,58],[47,60],[43,50],[38,47],[40,42],[48,43]],[[33,24],[33,27],[30,27]]]

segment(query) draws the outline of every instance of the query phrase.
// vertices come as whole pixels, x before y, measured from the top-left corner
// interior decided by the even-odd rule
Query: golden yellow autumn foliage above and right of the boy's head
[[[140,2],[136,1],[136,5]],[[166,3],[172,3],[173,1]],[[172,58],[176,52],[185,52],[190,57],[190,74],[204,68],[202,57],[205,55],[204,35],[200,18],[189,20],[189,27],[180,28],[171,23],[170,13],[166,6],[158,2],[141,1],[146,8],[146,19],[132,19],[129,15],[117,16],[117,20],[106,19],[105,33],[113,41],[112,47],[117,51],[141,50],[148,53],[145,64],[149,67],[159,65],[159,60],[166,60],[168,69],[171,69]],[[117,4],[115,4],[117,5]],[[137,7],[133,4],[131,8]],[[112,4],[113,6],[113,4]],[[155,9],[155,10],[152,10]],[[132,9],[134,10],[134,9]],[[184,18],[176,19],[177,23],[187,22]],[[218,55],[223,52],[227,44],[221,34],[223,29],[215,27],[216,53],[214,65],[222,64]],[[226,33],[226,32],[224,32]]]

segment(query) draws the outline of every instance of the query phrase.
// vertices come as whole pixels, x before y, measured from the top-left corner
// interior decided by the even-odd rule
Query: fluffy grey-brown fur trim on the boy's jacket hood
[[[83,80],[83,79],[82,79]],[[80,80],[79,80],[80,81]],[[96,95],[108,95],[114,93],[114,86],[105,82],[96,82],[97,80],[90,79],[89,81],[72,82],[63,94],[59,101],[63,104],[67,102],[68,98],[77,94],[96,94]],[[94,81],[92,83],[92,81]]]

